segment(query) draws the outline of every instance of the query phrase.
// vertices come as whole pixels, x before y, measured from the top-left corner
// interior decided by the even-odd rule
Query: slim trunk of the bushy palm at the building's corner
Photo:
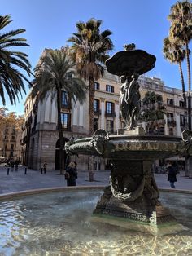
[[[62,123],[61,123],[61,90],[57,88],[57,113],[58,113],[58,131],[59,131],[59,143],[60,143],[60,149],[59,149],[59,169],[60,174],[63,174],[63,129],[62,129]]]

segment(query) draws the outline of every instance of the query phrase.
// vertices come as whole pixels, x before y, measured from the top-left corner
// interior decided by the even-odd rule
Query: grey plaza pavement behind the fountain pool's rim
[[[109,183],[110,171],[98,170],[94,172],[94,182],[88,181],[88,172],[79,171],[77,186],[105,186]],[[170,188],[167,174],[155,174],[155,180],[159,188]],[[37,188],[66,187],[64,175],[59,175],[59,170],[47,171],[41,174],[39,170],[27,170],[24,174],[24,166],[20,166],[18,172],[10,172],[7,175],[7,167],[0,166],[0,194],[18,192]],[[176,188],[192,191],[192,179],[185,177],[185,172],[177,174]]]

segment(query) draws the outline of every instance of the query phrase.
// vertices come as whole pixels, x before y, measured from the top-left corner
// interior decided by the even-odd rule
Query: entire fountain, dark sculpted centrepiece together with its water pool
[[[137,77],[154,67],[155,56],[126,50],[107,60],[108,71],[121,77],[126,128],[119,135],[98,130],[66,144],[69,154],[111,160],[110,186],[104,193],[68,187],[0,196],[1,255],[192,255],[191,192],[161,192],[162,205],[151,171],[157,158],[192,155],[192,132],[185,130],[181,140],[145,135],[137,126]]]

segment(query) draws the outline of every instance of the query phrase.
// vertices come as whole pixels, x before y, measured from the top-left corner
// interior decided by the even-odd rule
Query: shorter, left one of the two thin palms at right
[[[163,46],[164,58],[169,60],[172,64],[179,65],[179,71],[181,75],[181,86],[182,86],[182,95],[184,99],[184,108],[186,109],[186,95],[185,95],[185,81],[183,76],[183,70],[181,62],[185,60],[185,49],[176,41],[170,40],[170,38],[164,38]],[[185,125],[186,125],[186,116],[185,113]]]

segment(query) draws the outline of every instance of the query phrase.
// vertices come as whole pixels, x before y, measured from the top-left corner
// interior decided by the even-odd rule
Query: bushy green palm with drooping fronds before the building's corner
[[[60,142],[60,174],[63,174],[63,127],[61,121],[61,97],[62,91],[72,98],[74,103],[76,100],[83,104],[85,100],[85,82],[80,78],[74,77],[74,62],[69,59],[67,51],[49,50],[46,55],[41,57],[40,63],[34,69],[36,78],[33,81],[32,98],[38,95],[38,99],[42,103],[49,95],[51,99],[56,98],[58,111],[58,131]]]

